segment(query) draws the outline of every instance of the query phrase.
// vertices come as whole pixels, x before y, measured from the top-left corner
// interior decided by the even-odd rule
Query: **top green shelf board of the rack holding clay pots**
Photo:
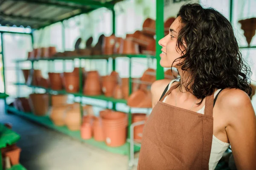
[[[73,60],[73,59],[116,59],[118,57],[128,57],[128,58],[155,58],[155,56],[152,55],[146,55],[146,54],[114,54],[114,55],[90,55],[90,56],[72,56],[72,57],[51,57],[51,58],[35,58],[35,59],[17,59],[15,62],[25,62],[25,61],[40,61],[40,60],[47,60],[47,61],[53,61],[53,60]]]

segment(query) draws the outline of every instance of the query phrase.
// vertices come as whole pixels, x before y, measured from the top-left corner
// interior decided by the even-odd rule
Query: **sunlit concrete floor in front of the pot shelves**
[[[5,114],[0,100],[0,123],[11,122],[20,134],[20,163],[27,170],[127,170],[128,156],[109,153],[69,136]],[[133,170],[137,168],[134,167]]]

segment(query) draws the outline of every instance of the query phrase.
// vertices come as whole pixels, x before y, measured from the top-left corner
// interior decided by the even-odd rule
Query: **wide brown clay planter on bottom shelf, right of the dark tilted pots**
[[[30,94],[29,106],[36,116],[45,116],[49,108],[48,94]]]

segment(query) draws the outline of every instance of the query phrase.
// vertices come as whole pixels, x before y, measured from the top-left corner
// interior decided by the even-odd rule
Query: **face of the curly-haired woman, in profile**
[[[174,62],[174,60],[181,57],[181,51],[178,48],[176,51],[177,36],[181,25],[179,20],[180,17],[177,17],[170,26],[169,34],[163,37],[158,42],[159,45],[162,46],[162,54],[160,54],[160,65],[162,67],[172,67],[172,63]],[[178,60],[173,63],[173,67],[175,67],[180,62],[182,62],[182,60]]]

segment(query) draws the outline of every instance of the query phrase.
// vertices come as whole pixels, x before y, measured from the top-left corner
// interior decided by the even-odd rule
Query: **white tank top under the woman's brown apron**
[[[177,80],[177,79],[173,79],[168,85],[168,90],[171,88],[171,85],[173,82],[178,82],[178,81],[179,80]],[[220,90],[221,89],[218,89],[217,91],[215,91],[214,98]],[[163,99],[163,102],[166,101],[166,97]],[[197,113],[204,114],[204,108],[205,108],[205,106],[203,108],[201,108],[199,111],[197,111]],[[215,167],[218,164],[218,161],[221,159],[224,152],[227,150],[227,148],[229,146],[230,146],[229,143],[222,142],[221,140],[216,138],[214,135],[212,135],[212,149],[211,149],[211,154],[210,154],[210,159],[209,159],[209,170],[215,169]]]

